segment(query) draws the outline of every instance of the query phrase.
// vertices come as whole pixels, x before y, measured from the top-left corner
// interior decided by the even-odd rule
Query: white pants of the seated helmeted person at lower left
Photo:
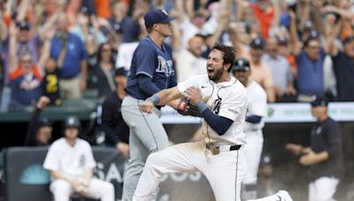
[[[69,201],[74,190],[69,182],[59,179],[50,182],[50,192],[54,196],[54,201]],[[92,178],[89,183],[89,197],[99,198],[101,201],[114,201],[114,186],[111,182]]]

